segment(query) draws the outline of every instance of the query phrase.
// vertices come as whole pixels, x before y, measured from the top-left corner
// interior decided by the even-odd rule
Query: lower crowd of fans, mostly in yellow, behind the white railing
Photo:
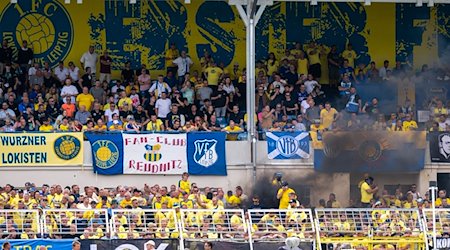
[[[389,194],[386,190],[378,192],[373,182],[369,184],[370,177],[361,181],[361,206],[373,208],[370,216],[365,215],[367,223],[382,221],[380,224],[380,236],[387,231],[394,236],[398,233],[406,233],[411,225],[416,225],[411,230],[416,230],[418,218],[400,218],[403,224],[395,224],[387,220],[383,215],[385,208],[430,208],[431,201],[429,193],[421,196],[417,187],[412,185],[410,190],[403,194],[397,189],[395,194]],[[366,185],[367,184],[367,185]],[[369,186],[369,187],[368,187]],[[366,197],[364,192],[372,192],[373,196]],[[299,208],[311,207],[309,204],[300,202],[300,195],[289,187],[286,181],[279,184],[276,198],[278,204],[265,204],[270,197],[253,195],[250,198],[244,194],[243,189],[238,186],[234,191],[225,192],[219,187],[202,187],[197,183],[191,183],[187,173],[182,175],[178,185],[169,188],[159,185],[144,185],[141,189],[137,187],[117,186],[116,188],[97,188],[86,186],[80,190],[78,185],[61,187],[60,185],[49,186],[44,184],[40,187],[34,183],[25,183],[23,188],[16,188],[10,184],[0,188],[0,233],[1,238],[7,239],[31,239],[36,237],[47,238],[73,238],[80,237],[88,239],[116,237],[126,238],[178,238],[179,231],[175,225],[175,216],[178,220],[184,220],[184,238],[233,238],[247,239],[245,228],[245,216],[239,212],[225,213],[224,209],[242,208],[251,212],[254,224],[255,239],[269,240],[286,237],[314,238],[313,225],[310,215]],[[255,190],[258,193],[258,190]],[[269,198],[269,199],[267,199]],[[366,204],[366,199],[369,199]],[[436,199],[436,206],[449,208],[450,198],[445,190],[440,190]],[[350,202],[348,208],[361,207]],[[280,208],[289,212],[261,212],[258,209]],[[328,201],[319,200],[316,209],[342,208],[335,194],[330,194]],[[26,210],[39,211],[38,216],[45,220],[44,235],[38,232],[38,222],[33,218],[36,214],[25,212]],[[70,211],[60,209],[73,209]],[[93,209],[105,209],[107,212],[94,212]],[[155,209],[146,212],[143,209]],[[167,209],[172,209],[168,212]],[[208,209],[210,212],[190,211],[180,218],[180,209]],[[256,209],[256,210],[255,210]],[[50,212],[43,213],[44,210]],[[11,211],[11,212],[6,212]],[[24,211],[24,212],[21,212]],[[52,212],[54,211],[54,212]],[[129,211],[129,212],[127,212]],[[173,212],[175,211],[175,212]],[[203,210],[206,211],[206,210]],[[272,211],[272,212],[271,212]],[[280,210],[282,211],[282,210]],[[377,212],[378,211],[378,212]],[[334,234],[356,234],[369,232],[361,228],[363,225],[351,225],[351,216],[359,216],[351,211],[340,213],[339,216],[331,218],[328,212],[320,216],[324,229],[328,228]],[[360,211],[361,213],[361,211]],[[106,216],[112,219],[111,226],[115,228],[116,235],[108,235]],[[412,213],[413,214],[413,213]],[[413,216],[411,214],[411,216]],[[391,216],[393,214],[390,214]],[[381,216],[381,217],[380,217]],[[403,215],[402,215],[403,216]],[[416,216],[416,215],[414,215]],[[367,217],[367,218],[366,218]],[[372,218],[373,217],[373,218]],[[417,216],[416,216],[417,217]],[[414,223],[409,221],[414,219]],[[353,222],[352,222],[353,223]],[[337,229],[333,229],[337,227]],[[355,229],[358,227],[358,230]],[[398,229],[398,227],[402,227]],[[354,230],[350,230],[353,228]],[[373,228],[373,225],[372,225]],[[408,231],[411,233],[411,230]],[[442,229],[444,230],[444,229]],[[6,232],[6,233],[5,233]],[[208,233],[206,233],[208,232]],[[442,234],[445,232],[443,231]],[[331,236],[330,236],[331,237]]]

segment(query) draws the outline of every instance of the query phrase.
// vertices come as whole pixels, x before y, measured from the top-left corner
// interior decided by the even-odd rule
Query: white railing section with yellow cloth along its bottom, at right
[[[418,209],[316,209],[318,246],[426,249]]]

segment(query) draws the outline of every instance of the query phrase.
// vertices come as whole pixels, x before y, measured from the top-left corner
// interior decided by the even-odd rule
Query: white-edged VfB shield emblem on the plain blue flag
[[[219,156],[216,151],[216,140],[197,140],[194,145],[194,161],[197,164],[207,168],[217,162]]]

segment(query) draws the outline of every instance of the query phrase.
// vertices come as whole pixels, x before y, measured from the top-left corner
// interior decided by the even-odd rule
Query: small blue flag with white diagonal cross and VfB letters
[[[308,132],[267,132],[266,136],[269,159],[309,158]]]

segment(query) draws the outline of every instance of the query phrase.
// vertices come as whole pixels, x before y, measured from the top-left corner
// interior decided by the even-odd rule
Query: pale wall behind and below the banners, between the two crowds
[[[244,188],[245,193],[273,192],[272,176],[276,172],[283,173],[283,179],[291,186],[309,190],[307,196],[312,205],[317,205],[319,199],[328,197],[331,192],[343,205],[348,204],[352,188],[361,180],[360,173],[319,173],[314,170],[314,150],[305,160],[269,160],[267,159],[266,142],[257,143],[257,182],[253,182],[253,166],[250,164],[250,147],[246,141],[226,142],[228,176],[191,176],[192,182],[201,183],[201,186],[223,187],[224,190],[234,190],[238,185]],[[58,167],[2,167],[0,169],[0,183],[10,183],[22,186],[25,182],[34,182],[38,186],[47,184],[80,186],[116,187],[128,185],[142,187],[144,183],[171,185],[178,182],[177,175],[96,175],[92,168],[92,153],[88,142],[84,145],[85,160],[83,166]],[[374,174],[380,187],[385,185],[411,185],[417,184],[418,190],[425,193],[428,183],[436,180],[438,173],[450,173],[450,165],[431,163],[429,149],[426,150],[425,169],[420,173],[401,174]],[[304,189],[307,187],[307,189]]]

